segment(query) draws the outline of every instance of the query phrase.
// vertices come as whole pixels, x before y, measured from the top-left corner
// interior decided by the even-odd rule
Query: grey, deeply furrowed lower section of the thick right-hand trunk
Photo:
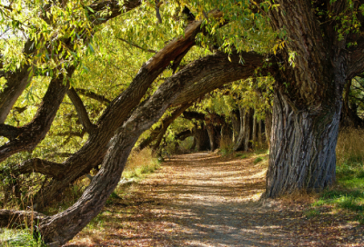
[[[335,181],[341,102],[322,114],[295,111],[276,92],[267,173],[267,197],[322,191]]]

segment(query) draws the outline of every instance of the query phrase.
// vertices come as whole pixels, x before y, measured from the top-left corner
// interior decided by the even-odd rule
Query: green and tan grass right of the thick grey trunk
[[[364,224],[364,131],[339,133],[337,146],[337,184],[321,193],[311,204],[313,210],[331,206],[339,213],[354,215]]]

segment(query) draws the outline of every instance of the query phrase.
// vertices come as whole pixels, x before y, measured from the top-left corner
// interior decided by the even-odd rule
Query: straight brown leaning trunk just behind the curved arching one
[[[106,108],[86,144],[63,163],[66,171],[62,179],[54,180],[45,190],[36,194],[35,202],[40,207],[54,200],[57,194],[67,188],[68,184],[73,183],[100,163],[106,154],[107,143],[116,129],[126,121],[131,111],[140,103],[150,84],[166,69],[170,61],[195,44],[195,36],[200,31],[200,25],[201,22],[189,25],[183,37],[171,41],[141,67],[130,86]]]

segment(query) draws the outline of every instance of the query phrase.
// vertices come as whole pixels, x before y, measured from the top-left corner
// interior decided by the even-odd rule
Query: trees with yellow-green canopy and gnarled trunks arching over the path
[[[266,122],[265,196],[321,191],[335,181],[344,88],[364,70],[363,4],[6,2],[0,5],[1,176],[23,199],[24,186],[32,181],[29,206],[42,211],[78,178],[98,171],[66,211],[32,216],[44,242],[60,246],[101,210],[139,137],[166,111],[170,114],[137,145],[154,141],[157,148],[168,125],[185,113],[192,119],[204,114],[198,124],[205,127],[195,126],[193,134],[197,140],[207,136],[210,149],[217,144],[216,133],[228,133],[216,132],[212,123],[227,129],[229,115],[234,149],[247,150],[247,140],[258,138],[253,129],[263,128],[253,115],[266,112],[256,106],[254,114],[244,102],[249,96],[241,92],[254,92],[273,98]],[[227,90],[239,104],[225,116],[201,108],[194,113],[196,107],[187,111],[205,94],[248,78],[254,79]],[[348,99],[355,97],[346,92]],[[345,105],[349,115],[354,107],[349,100]],[[207,134],[199,131],[204,129]],[[0,215],[4,225],[29,213],[3,210]]]

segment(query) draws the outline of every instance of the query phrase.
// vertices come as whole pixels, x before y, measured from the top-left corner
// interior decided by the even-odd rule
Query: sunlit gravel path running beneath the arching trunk
[[[284,233],[258,199],[266,169],[214,153],[175,156],[146,186],[180,220],[174,246],[279,246]]]

